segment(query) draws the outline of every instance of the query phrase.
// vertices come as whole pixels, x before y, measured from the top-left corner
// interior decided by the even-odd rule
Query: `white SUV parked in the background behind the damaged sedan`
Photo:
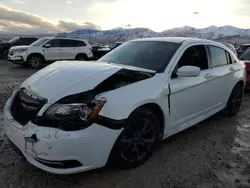
[[[44,62],[57,60],[88,60],[92,48],[82,39],[42,38],[30,46],[10,48],[8,60],[13,63],[39,68]]]

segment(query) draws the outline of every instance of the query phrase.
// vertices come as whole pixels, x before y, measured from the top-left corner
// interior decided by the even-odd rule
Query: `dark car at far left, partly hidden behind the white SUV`
[[[30,45],[31,43],[38,40],[35,37],[15,37],[8,42],[0,43],[0,56],[4,59],[8,58],[9,49],[13,46]]]

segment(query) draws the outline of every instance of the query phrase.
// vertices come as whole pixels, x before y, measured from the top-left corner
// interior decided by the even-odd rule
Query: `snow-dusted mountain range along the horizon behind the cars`
[[[57,36],[84,38],[91,43],[113,43],[145,37],[192,37],[215,41],[230,42],[235,45],[250,42],[250,29],[241,29],[233,26],[210,26],[203,29],[184,26],[155,32],[148,28],[115,28],[112,30],[82,29],[71,33],[58,33]]]

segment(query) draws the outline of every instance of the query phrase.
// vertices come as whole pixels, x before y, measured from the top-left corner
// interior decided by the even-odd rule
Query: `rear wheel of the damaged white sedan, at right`
[[[223,110],[223,113],[228,116],[234,116],[240,109],[243,97],[243,85],[238,83],[233,88],[233,91],[228,99],[227,106]]]

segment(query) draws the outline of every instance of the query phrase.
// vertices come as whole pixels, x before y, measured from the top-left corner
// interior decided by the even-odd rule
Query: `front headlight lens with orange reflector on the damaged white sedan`
[[[46,112],[45,116],[53,120],[69,120],[75,123],[87,122],[97,117],[106,99],[93,100],[85,103],[54,104]]]

